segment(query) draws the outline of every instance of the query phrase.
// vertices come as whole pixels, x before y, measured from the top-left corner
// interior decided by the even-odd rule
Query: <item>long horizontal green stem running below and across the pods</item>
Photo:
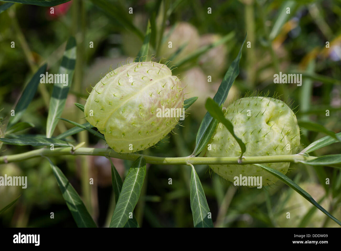
[[[5,155],[0,157],[1,163],[23,161],[34,157],[41,156],[61,156],[61,155],[97,155],[107,156],[120,159],[128,159],[131,161],[136,160],[139,156],[143,156],[147,163],[158,165],[187,165],[191,163],[193,165],[221,165],[221,164],[261,164],[261,163],[278,163],[278,162],[292,162],[307,161],[314,159],[313,156],[303,156],[300,154],[291,155],[273,155],[273,156],[245,156],[242,159],[242,163],[238,163],[239,157],[154,157],[149,155],[141,155],[136,153],[116,153],[110,149],[104,148],[87,148],[81,147],[73,150],[72,147],[61,147],[50,150],[49,148],[41,148],[26,153],[19,153],[13,155]]]

